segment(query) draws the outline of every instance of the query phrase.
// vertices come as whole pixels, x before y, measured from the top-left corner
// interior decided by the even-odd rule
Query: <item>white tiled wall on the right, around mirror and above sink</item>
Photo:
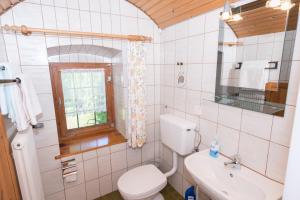
[[[173,113],[195,121],[200,126],[204,147],[209,146],[213,139],[218,139],[223,154],[232,156],[238,153],[241,155],[243,164],[247,167],[283,182],[297,87],[300,80],[298,59],[294,59],[292,63],[287,97],[288,106],[283,118],[214,103],[219,33],[218,13],[219,11],[215,10],[162,31],[161,49],[164,52],[161,53],[161,112]],[[187,34],[180,30],[184,24],[187,24]],[[298,27],[297,33],[299,33],[299,29],[300,27]],[[180,39],[176,37],[177,35],[180,35]],[[185,56],[177,56],[177,54],[181,54],[182,50],[175,47],[181,44],[183,40],[188,41],[187,63],[184,63],[186,67],[184,70],[186,70],[187,75],[186,84],[183,87],[178,87],[175,84],[178,76],[176,62],[184,62]],[[298,37],[296,41],[295,46],[300,46]],[[256,49],[259,43],[282,42],[282,34],[247,37],[244,38],[243,42],[245,48],[238,51],[244,55],[250,53],[248,54],[250,57],[253,54],[252,57],[256,58]],[[265,48],[262,46],[259,49],[271,58],[277,55],[276,52],[279,51],[276,49],[273,52],[266,51],[263,50]],[[234,52],[232,53],[234,54]],[[296,52],[297,48],[295,49]],[[262,55],[262,53],[260,54]],[[239,57],[242,58],[242,55]],[[200,117],[195,115],[194,105],[202,106]],[[195,143],[196,141],[198,139],[195,140]],[[161,169],[166,171],[172,165],[172,154],[163,145],[160,154]],[[179,165],[183,164],[182,160],[179,159]],[[279,160],[282,161],[280,164],[278,163]],[[183,178],[178,178],[178,174]],[[178,170],[177,174],[169,181],[182,193],[193,182],[184,170],[183,172]],[[178,181],[182,181],[182,183],[178,183]]]

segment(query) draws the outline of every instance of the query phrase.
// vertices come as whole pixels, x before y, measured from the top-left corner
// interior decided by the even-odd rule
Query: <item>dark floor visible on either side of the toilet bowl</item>
[[[183,200],[183,197],[169,184],[161,191],[161,194],[165,200]],[[96,200],[123,200],[123,198],[120,193],[116,191]]]

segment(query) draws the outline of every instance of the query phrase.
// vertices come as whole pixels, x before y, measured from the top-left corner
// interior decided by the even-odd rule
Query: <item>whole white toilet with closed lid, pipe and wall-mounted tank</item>
[[[173,150],[173,168],[163,174],[154,165],[129,170],[118,180],[118,189],[125,200],[163,200],[159,193],[167,178],[177,170],[177,153],[185,156],[194,149],[196,124],[174,115],[160,116],[161,141]]]

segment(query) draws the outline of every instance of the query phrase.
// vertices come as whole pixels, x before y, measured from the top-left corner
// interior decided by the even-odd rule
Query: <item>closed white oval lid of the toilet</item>
[[[143,165],[123,174],[118,189],[129,199],[147,198],[167,185],[166,176],[154,165]]]

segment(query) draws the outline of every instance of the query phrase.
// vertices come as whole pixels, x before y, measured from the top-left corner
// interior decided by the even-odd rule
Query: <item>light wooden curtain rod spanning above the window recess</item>
[[[44,33],[45,35],[62,35],[62,36],[77,36],[77,37],[94,37],[94,38],[106,38],[106,39],[120,39],[129,41],[141,41],[151,42],[152,38],[143,35],[121,35],[121,34],[107,34],[107,33],[95,33],[95,32],[81,32],[81,31],[66,31],[56,29],[43,29],[32,28],[25,25],[15,26],[5,24],[0,26],[5,31],[21,32],[23,35],[31,35],[32,33]]]

